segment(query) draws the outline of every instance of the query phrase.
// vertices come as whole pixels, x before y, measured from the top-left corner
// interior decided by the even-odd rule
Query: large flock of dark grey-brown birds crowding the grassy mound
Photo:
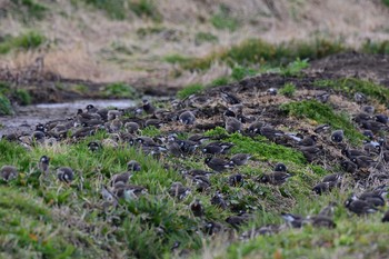
[[[265,96],[277,96],[275,89],[263,92]],[[361,94],[361,93],[360,93]],[[318,101],[327,102],[321,96]],[[322,160],[326,156],[323,142],[330,145],[333,150],[339,152],[339,166],[342,172],[337,172],[323,177],[323,179],[312,187],[316,195],[323,195],[333,188],[343,186],[345,176],[363,175],[369,182],[377,185],[360,193],[351,193],[343,201],[343,206],[352,213],[358,216],[380,211],[379,207],[386,205],[386,196],[389,186],[385,182],[389,179],[389,145],[381,132],[388,132],[388,117],[385,113],[375,113],[372,106],[361,106],[361,111],[353,117],[353,121],[359,124],[361,132],[366,137],[362,149],[350,149],[346,143],[343,129],[331,129],[329,124],[320,124],[310,132],[291,133],[277,129],[269,121],[247,112],[248,103],[243,102],[237,94],[229,91],[219,91],[215,98],[208,96],[191,96],[184,100],[171,101],[171,110],[158,109],[148,100],[143,100],[141,106],[118,110],[118,109],[98,109],[92,104],[86,107],[86,110],[78,110],[73,118],[49,121],[44,124],[37,124],[32,133],[17,135],[10,133],[2,138],[8,141],[16,141],[31,149],[34,145],[54,145],[58,141],[77,141],[80,138],[92,136],[97,131],[107,131],[108,138],[101,141],[91,141],[88,148],[91,152],[98,152],[104,147],[117,148],[121,145],[134,147],[146,155],[160,157],[173,156],[186,158],[192,155],[203,157],[203,163],[209,168],[186,169],[183,175],[191,182],[186,186],[182,182],[173,182],[168,190],[171,197],[178,200],[186,199],[193,189],[205,192],[211,188],[209,176],[223,173],[233,170],[228,178],[228,185],[239,187],[245,185],[245,176],[237,172],[238,167],[247,165],[252,155],[237,153],[229,158],[228,153],[231,147],[230,142],[223,142],[222,138],[210,138],[201,133],[193,133],[188,139],[178,138],[177,131],[171,131],[164,136],[150,138],[142,136],[142,129],[153,126],[156,128],[171,126],[181,128],[184,131],[205,128],[215,128],[222,126],[228,133],[241,133],[249,137],[263,136],[276,143],[286,145],[300,150],[309,162]],[[205,126],[205,121],[213,119]],[[54,173],[59,181],[70,185],[77,177],[70,167],[59,167],[54,172],[50,168],[50,159],[42,156],[39,161],[39,169],[44,175]],[[107,206],[117,206],[120,199],[137,199],[137,197],[147,193],[142,186],[130,183],[131,176],[142,170],[142,166],[131,160],[127,165],[127,171],[117,173],[109,179],[107,185],[101,187],[101,197]],[[18,177],[18,169],[13,166],[3,166],[0,169],[0,178],[3,181],[11,181]],[[263,173],[256,180],[260,185],[280,186],[292,178],[288,172],[286,165],[279,162],[273,165],[270,173]],[[383,183],[382,183],[383,182]],[[381,183],[381,185],[378,185]],[[229,202],[219,190],[210,200],[212,206],[221,209],[228,209]],[[282,226],[268,225],[258,229],[243,232],[242,239],[258,235],[268,235],[280,231],[285,227],[301,228],[310,223],[313,227],[336,228],[332,216],[338,202],[331,202],[325,207],[318,215],[299,216],[292,213],[282,213],[281,217],[286,223]],[[190,210],[194,217],[203,218],[205,207],[199,199],[193,199],[190,203]],[[238,228],[239,226],[252,219],[250,211],[239,211],[235,216],[226,219],[226,222]],[[385,213],[382,221],[389,221],[389,211]],[[205,221],[205,231],[213,235],[226,229],[225,223],[216,221]]]

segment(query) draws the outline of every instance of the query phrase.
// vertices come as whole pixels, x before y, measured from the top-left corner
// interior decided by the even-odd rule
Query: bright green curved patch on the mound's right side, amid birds
[[[332,129],[342,129],[345,136],[353,145],[358,145],[363,139],[363,136],[356,130],[351,123],[350,118],[346,114],[338,114],[333,109],[325,103],[316,100],[305,100],[283,103],[280,109],[287,112],[289,116],[298,118],[308,118],[315,120],[317,123],[328,123]]]

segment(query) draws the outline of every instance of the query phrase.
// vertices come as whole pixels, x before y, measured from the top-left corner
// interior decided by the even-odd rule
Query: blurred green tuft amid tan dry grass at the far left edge
[[[12,49],[36,49],[46,41],[44,36],[38,31],[30,31],[18,37],[7,37],[0,41],[0,54],[10,52]]]

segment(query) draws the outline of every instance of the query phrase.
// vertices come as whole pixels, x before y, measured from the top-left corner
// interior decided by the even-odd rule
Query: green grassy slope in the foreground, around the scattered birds
[[[369,97],[371,100],[376,98],[375,94]],[[291,103],[306,104],[305,101]],[[312,109],[311,106],[308,108]],[[328,114],[326,109],[315,108],[318,113],[311,117],[309,109],[300,111],[300,116],[306,116],[303,120],[317,120],[320,123],[321,116]],[[333,113],[327,119],[336,127],[345,116],[332,110],[331,112]],[[161,132],[148,129],[142,133],[158,136]],[[193,190],[183,201],[171,198],[168,188],[174,181],[190,186],[190,181],[179,173],[182,168],[207,169],[199,155],[186,159],[169,156],[153,159],[126,143],[121,143],[118,149],[103,148],[91,153],[87,143],[107,138],[103,132],[76,143],[36,146],[31,151],[26,151],[16,143],[0,141],[0,166],[14,165],[20,171],[17,180],[0,183],[0,255],[160,258],[162,255],[172,256],[170,248],[176,241],[180,241],[178,251],[183,249],[198,257],[207,252],[220,258],[352,258],[360,255],[380,258],[388,255],[386,240],[389,226],[380,223],[380,213],[360,218],[350,216],[341,205],[349,189],[335,190],[320,197],[311,196],[312,186],[322,176],[337,171],[337,168],[329,171],[321,166],[308,165],[299,151],[263,138],[251,139],[240,133],[226,135],[221,128],[206,135],[225,136],[223,140],[233,142],[236,146],[229,156],[250,152],[253,159],[248,166],[239,168],[239,172],[245,176],[243,186],[229,186],[227,181],[230,173],[213,175],[210,177],[210,191],[200,193]],[[37,170],[37,161],[42,155],[51,158],[51,170],[59,166],[72,167],[77,172],[76,180],[66,186],[53,176],[42,178]],[[132,159],[138,160],[143,169],[133,176],[131,182],[146,187],[149,195],[138,200],[121,200],[116,209],[102,209],[101,185],[107,185],[113,173],[124,171],[127,161]],[[271,171],[271,165],[278,161],[285,162],[295,177],[281,187],[259,185],[256,179]],[[167,170],[163,165],[170,165],[172,169]],[[227,197],[230,210],[223,211],[210,205],[215,190],[220,190]],[[194,198],[199,198],[205,205],[203,219],[193,217],[188,207]],[[210,220],[226,225],[225,219],[233,215],[232,210],[251,210],[255,213],[253,220],[240,230],[242,232],[266,223],[280,223],[281,211],[316,213],[329,201],[338,201],[340,205],[335,216],[338,227],[333,230],[318,230],[308,226],[302,230],[286,230],[248,242],[232,240],[222,251],[220,250],[226,248],[226,242],[215,248],[220,242],[218,238],[223,240],[222,237],[211,238],[201,232],[205,222]],[[153,243],[151,248],[150,243]],[[16,249],[17,247],[23,249]]]

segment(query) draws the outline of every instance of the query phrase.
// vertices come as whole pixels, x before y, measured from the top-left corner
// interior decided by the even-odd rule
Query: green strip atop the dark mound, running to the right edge
[[[389,107],[389,89],[370,81],[356,78],[345,78],[338,80],[317,80],[313,83],[317,88],[331,88],[353,97],[356,92],[361,92],[370,99]]]

